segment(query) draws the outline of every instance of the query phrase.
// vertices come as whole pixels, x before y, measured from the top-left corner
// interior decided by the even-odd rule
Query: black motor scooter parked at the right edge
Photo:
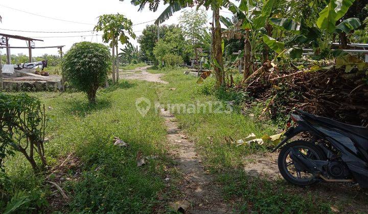
[[[295,126],[284,133],[278,167],[285,180],[301,186],[320,181],[356,182],[368,188],[368,128],[296,110],[290,114]],[[307,140],[295,140],[304,133]]]

